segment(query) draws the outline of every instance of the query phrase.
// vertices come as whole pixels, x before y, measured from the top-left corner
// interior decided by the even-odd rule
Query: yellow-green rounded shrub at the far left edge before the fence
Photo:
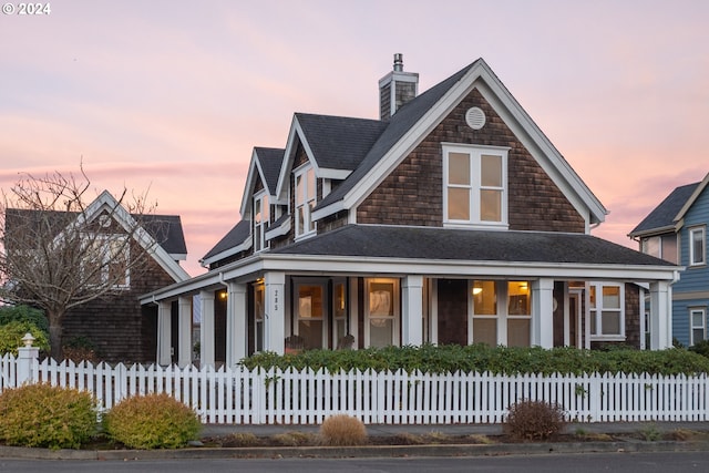
[[[78,449],[96,426],[88,392],[28,384],[0,394],[0,439],[9,445]]]

